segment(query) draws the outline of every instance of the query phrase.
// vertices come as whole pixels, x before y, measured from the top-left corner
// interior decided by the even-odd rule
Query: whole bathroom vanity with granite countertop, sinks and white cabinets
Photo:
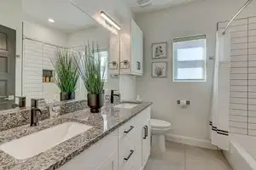
[[[0,169],[140,170],[150,154],[151,103],[107,105],[0,132]]]

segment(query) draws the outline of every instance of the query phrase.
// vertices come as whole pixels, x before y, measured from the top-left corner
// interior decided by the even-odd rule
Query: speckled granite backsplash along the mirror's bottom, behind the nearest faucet
[[[69,100],[60,102],[61,115],[74,111],[84,110],[87,107],[86,100]],[[49,107],[41,108],[39,120],[49,118]],[[14,127],[20,127],[30,123],[31,107],[17,108],[12,110],[0,111],[0,132]]]

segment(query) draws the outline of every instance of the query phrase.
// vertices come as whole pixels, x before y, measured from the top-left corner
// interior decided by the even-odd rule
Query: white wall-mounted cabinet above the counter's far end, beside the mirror
[[[129,32],[130,31],[130,32]],[[143,31],[131,19],[130,30],[120,34],[120,74],[143,75]],[[130,37],[127,37],[127,34]]]

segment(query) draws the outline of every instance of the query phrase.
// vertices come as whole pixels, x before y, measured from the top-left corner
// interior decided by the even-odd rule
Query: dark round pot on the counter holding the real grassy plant
[[[104,103],[104,94],[87,94],[87,105],[91,113],[98,113]]]

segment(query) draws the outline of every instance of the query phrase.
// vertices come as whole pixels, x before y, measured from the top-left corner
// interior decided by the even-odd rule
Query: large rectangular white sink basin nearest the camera
[[[79,133],[84,133],[91,127],[79,122],[65,122],[55,127],[47,128],[38,133],[32,133],[20,139],[1,144],[0,150],[16,159],[26,159],[49,150]]]

